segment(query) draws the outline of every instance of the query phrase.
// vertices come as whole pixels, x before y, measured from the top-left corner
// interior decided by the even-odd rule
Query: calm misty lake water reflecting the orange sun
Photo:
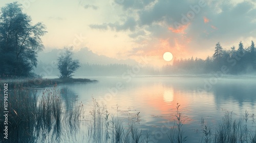
[[[255,78],[85,78],[98,82],[57,86],[62,92],[61,98],[67,105],[66,108],[72,108],[74,103],[81,103],[83,116],[89,121],[93,99],[96,99],[100,106],[105,105],[111,114],[122,120],[137,120],[138,128],[143,133],[148,130],[151,142],[168,142],[166,133],[169,133],[174,121],[177,121],[177,103],[180,105],[182,128],[188,140],[186,142],[198,142],[202,139],[205,125],[214,131],[227,111],[232,111],[233,119],[243,117],[245,110],[248,111],[248,127],[255,130]],[[80,132],[86,133],[86,126],[81,126]]]

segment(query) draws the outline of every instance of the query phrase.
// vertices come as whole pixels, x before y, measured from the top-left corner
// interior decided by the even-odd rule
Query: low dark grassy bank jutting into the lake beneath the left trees
[[[60,79],[43,79],[43,78],[5,78],[0,79],[0,85],[4,85],[8,83],[9,88],[20,88],[20,87],[46,87],[53,86],[55,84],[63,84],[63,83],[87,83],[87,82],[96,82],[96,80],[90,79],[73,79],[73,78],[60,78]]]

